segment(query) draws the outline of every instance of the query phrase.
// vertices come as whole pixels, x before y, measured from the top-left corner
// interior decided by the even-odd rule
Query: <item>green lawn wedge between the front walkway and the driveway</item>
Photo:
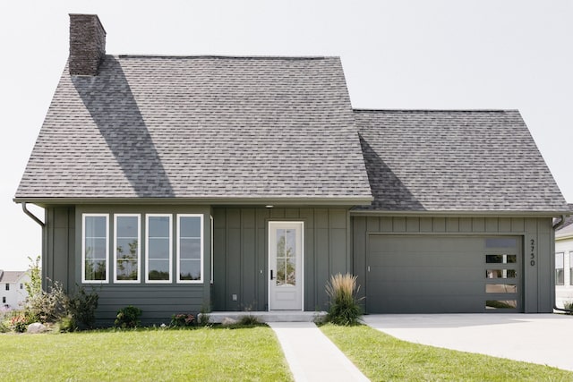
[[[325,325],[321,330],[372,381],[573,381],[573,372],[412,344],[372,327]]]

